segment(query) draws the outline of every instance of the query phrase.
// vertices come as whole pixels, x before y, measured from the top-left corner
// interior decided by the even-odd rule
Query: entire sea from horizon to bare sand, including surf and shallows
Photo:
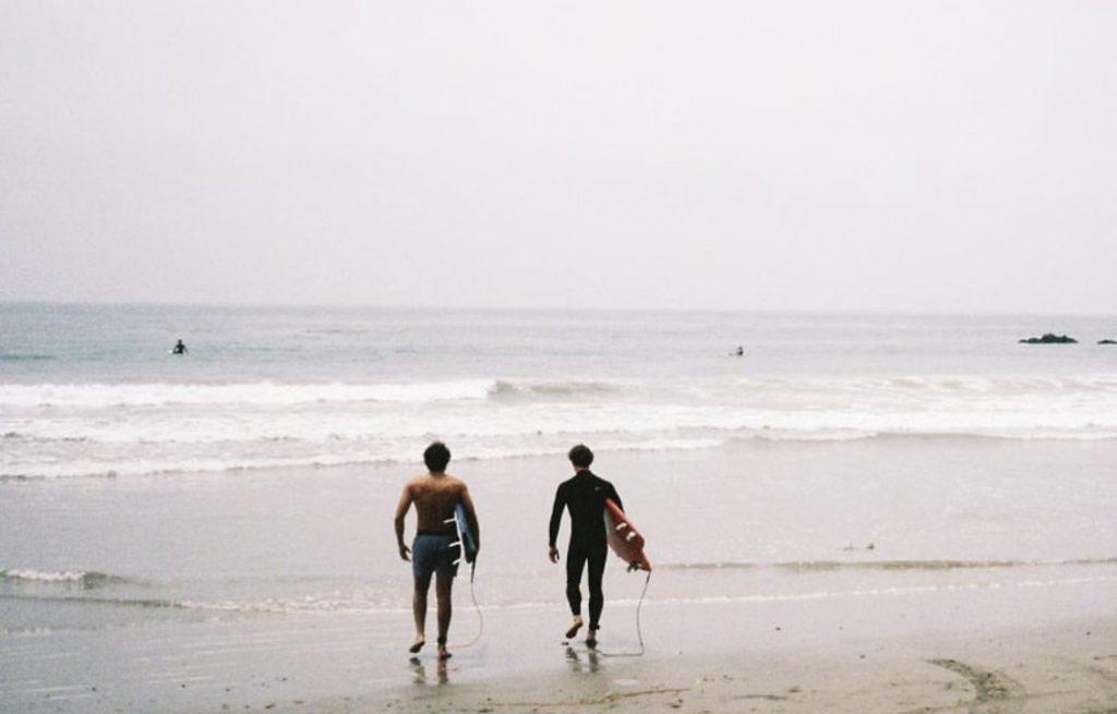
[[[1079,342],[1018,342],[1049,331]],[[820,602],[944,627],[934,604],[984,592],[1097,610],[1115,336],[1089,316],[0,306],[0,708],[405,681],[391,520],[436,438],[481,520],[459,679],[550,666],[540,633],[569,614],[546,520],[579,442],[647,538],[651,656]],[[607,570],[614,647],[641,586]],[[451,645],[483,627],[468,580],[456,598]]]

